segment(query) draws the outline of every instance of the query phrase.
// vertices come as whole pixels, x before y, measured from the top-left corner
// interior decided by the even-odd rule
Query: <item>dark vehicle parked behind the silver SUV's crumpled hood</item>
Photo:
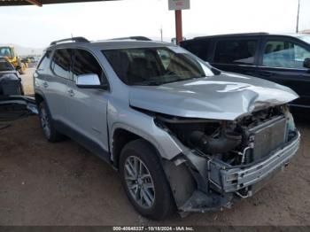
[[[310,108],[310,35],[213,35],[180,45],[223,71],[288,86],[300,96],[291,105]]]

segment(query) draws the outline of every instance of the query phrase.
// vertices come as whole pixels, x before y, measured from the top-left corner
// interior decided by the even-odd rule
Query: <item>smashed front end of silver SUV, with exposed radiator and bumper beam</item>
[[[299,133],[285,104],[236,120],[157,114],[155,122],[187,148],[164,163],[183,214],[219,210],[251,197],[298,151]]]

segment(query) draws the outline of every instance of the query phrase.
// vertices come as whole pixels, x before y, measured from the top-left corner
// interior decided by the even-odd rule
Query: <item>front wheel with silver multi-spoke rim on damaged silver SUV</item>
[[[129,142],[120,152],[120,178],[136,211],[151,220],[174,213],[166,174],[155,149],[143,139]]]

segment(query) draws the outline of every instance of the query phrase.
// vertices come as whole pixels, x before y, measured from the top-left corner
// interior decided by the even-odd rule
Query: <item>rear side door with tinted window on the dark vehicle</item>
[[[260,36],[213,39],[210,64],[227,72],[255,75],[259,43]]]

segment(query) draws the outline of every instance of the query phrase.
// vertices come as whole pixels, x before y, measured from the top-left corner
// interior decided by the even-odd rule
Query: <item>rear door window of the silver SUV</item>
[[[55,53],[51,60],[51,69],[59,77],[71,79],[71,59],[71,49],[55,50]]]

